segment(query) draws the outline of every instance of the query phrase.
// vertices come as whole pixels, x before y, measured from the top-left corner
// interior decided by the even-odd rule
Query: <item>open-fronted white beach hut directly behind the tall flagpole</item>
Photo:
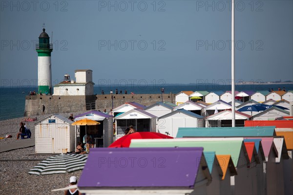
[[[244,122],[251,116],[235,111],[235,126],[244,127]],[[206,127],[232,127],[232,111],[230,109],[220,111],[205,118]]]

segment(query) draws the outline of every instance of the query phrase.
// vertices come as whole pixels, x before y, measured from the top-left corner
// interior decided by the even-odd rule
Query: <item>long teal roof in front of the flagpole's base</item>
[[[179,137],[247,137],[273,136],[275,127],[215,127],[215,128],[178,128]]]

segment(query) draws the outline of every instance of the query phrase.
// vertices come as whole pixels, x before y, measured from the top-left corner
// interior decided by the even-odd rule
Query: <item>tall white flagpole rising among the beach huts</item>
[[[234,31],[234,0],[231,3],[231,90],[232,90],[232,127],[235,127],[235,31]]]

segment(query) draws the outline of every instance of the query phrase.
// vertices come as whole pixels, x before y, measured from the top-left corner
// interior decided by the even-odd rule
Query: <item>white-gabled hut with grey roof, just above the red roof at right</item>
[[[272,108],[266,109],[258,114],[253,115],[252,119],[254,121],[275,120],[276,118],[281,117],[281,116],[289,116],[289,114],[290,114],[289,111],[286,111],[284,109],[277,108],[277,107],[272,107]]]

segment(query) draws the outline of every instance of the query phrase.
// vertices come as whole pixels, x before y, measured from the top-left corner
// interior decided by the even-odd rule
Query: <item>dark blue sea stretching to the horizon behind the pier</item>
[[[205,84],[205,85],[170,85],[165,84],[164,86],[128,86],[119,88],[118,92],[122,90],[124,93],[130,94],[156,94],[161,93],[161,88],[164,87],[165,94],[173,93],[177,94],[180,91],[230,91],[230,85],[215,85],[215,84]],[[286,91],[293,90],[293,84],[250,84],[250,85],[236,85],[235,90],[244,91],[261,91],[261,90],[278,90],[278,87],[283,89],[285,87]],[[6,120],[11,118],[23,117],[24,114],[24,104],[25,96],[28,95],[30,91],[37,91],[38,87],[0,87],[0,120]],[[104,90],[105,94],[109,94],[110,90],[115,93],[115,86],[94,86],[94,94],[101,94]]]

